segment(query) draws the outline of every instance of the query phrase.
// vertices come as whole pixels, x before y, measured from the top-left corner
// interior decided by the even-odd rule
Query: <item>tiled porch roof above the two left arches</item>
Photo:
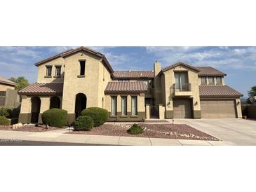
[[[62,95],[63,83],[34,83],[19,91],[20,95]]]

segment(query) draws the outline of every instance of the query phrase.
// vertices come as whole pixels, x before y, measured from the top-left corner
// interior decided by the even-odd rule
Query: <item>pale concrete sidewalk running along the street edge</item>
[[[199,141],[188,139],[158,139],[146,137],[114,137],[103,135],[65,134],[69,130],[54,130],[48,132],[22,132],[0,130],[0,145],[10,145],[8,142],[54,142],[88,145],[128,145],[128,146],[222,146],[220,141]],[[22,144],[22,143],[21,143]]]

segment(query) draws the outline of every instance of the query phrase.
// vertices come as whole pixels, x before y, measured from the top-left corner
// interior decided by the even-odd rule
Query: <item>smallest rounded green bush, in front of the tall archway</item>
[[[93,128],[93,118],[90,116],[79,116],[76,118],[76,121],[74,121],[74,130],[91,130]]]

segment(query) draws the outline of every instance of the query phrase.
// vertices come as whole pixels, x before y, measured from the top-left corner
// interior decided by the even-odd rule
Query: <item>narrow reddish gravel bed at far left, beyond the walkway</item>
[[[11,125],[0,125],[0,130],[13,130],[13,128]],[[60,128],[49,127],[46,129],[46,125],[39,125],[39,127],[34,125],[24,125],[20,128],[14,129],[13,131],[46,132],[50,130],[60,130]]]

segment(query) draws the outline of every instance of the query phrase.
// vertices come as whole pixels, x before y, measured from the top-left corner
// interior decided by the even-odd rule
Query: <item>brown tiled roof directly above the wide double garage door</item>
[[[200,97],[242,97],[241,92],[228,85],[199,85]]]

